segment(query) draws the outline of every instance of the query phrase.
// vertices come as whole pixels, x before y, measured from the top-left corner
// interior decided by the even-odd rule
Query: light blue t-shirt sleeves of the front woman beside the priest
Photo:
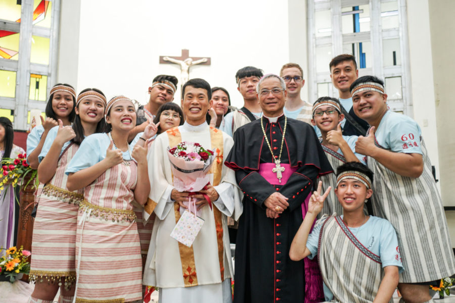
[[[68,164],[65,174],[75,173],[84,168],[94,166],[106,158],[106,150],[111,139],[106,133],[96,133],[86,137],[80,144],[79,149],[74,154],[73,159]],[[113,146],[115,148],[115,146]],[[124,160],[131,160],[129,150],[122,151]]]

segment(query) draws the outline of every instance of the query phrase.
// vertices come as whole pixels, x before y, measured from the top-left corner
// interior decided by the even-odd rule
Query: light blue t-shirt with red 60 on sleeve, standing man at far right
[[[375,130],[376,141],[395,153],[421,154],[422,131],[416,121],[402,114],[387,111]]]

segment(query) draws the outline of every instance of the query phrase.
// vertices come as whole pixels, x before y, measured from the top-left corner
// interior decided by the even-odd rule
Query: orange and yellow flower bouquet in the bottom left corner
[[[28,275],[30,273],[30,263],[27,262],[27,258],[30,255],[31,252],[23,250],[22,246],[19,249],[16,246],[6,249],[5,256],[0,258],[0,275],[10,278],[11,283],[16,281],[17,278],[20,279],[23,274]]]

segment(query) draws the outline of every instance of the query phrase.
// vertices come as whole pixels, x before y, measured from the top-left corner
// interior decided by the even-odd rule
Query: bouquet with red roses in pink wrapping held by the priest
[[[175,189],[196,192],[210,182],[208,171],[216,157],[214,150],[208,150],[199,143],[187,141],[167,149]]]

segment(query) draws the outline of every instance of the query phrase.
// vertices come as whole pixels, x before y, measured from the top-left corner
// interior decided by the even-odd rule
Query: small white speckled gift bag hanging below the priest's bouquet
[[[191,212],[194,207],[194,213]],[[204,224],[204,220],[196,216],[196,199],[190,197],[189,209],[181,215],[170,236],[178,242],[190,247]]]

